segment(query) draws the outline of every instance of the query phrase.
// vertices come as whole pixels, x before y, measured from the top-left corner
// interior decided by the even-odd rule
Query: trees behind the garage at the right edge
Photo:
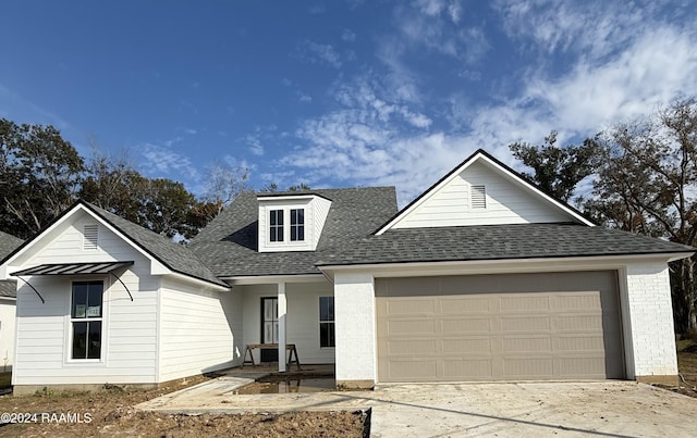
[[[523,176],[600,225],[697,247],[697,100],[619,123],[579,145],[515,142]],[[585,190],[577,190],[582,182]],[[583,191],[573,198],[576,191]],[[697,331],[695,256],[670,267],[675,330]]]

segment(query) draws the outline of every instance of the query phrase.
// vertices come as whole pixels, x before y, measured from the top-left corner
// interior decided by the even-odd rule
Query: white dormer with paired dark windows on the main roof
[[[315,193],[260,193],[259,252],[315,251],[331,201]]]

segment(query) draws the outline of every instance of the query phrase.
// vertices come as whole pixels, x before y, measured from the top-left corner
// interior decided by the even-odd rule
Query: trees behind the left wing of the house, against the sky
[[[110,155],[93,142],[93,157],[85,160],[50,125],[0,118],[0,229],[23,239],[77,199],[163,236],[188,239],[250,190],[247,182],[246,168],[217,163],[196,197],[182,183],[142,175],[125,152]]]

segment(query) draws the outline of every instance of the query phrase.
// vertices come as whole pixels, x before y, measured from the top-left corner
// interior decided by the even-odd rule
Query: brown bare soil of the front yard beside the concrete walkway
[[[100,392],[45,391],[0,397],[0,437],[363,437],[364,412],[293,412],[281,415],[171,415],[134,406],[207,380],[198,376],[154,390],[110,387]],[[29,415],[24,415],[29,414]],[[34,415],[36,414],[36,415]],[[3,417],[7,420],[7,416]]]

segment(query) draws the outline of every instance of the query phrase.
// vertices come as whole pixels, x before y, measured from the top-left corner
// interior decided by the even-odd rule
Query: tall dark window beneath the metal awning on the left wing
[[[103,281],[75,281],[71,299],[72,359],[101,358]]]

